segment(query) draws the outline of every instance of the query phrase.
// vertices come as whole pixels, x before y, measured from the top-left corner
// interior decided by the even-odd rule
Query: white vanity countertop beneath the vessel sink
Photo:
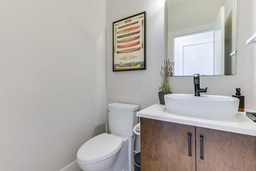
[[[186,125],[206,127],[208,129],[227,131],[245,135],[256,136],[256,122],[250,120],[245,112],[238,112],[236,118],[228,120],[214,120],[170,114],[165,105],[153,104],[137,112],[138,117],[181,123]]]

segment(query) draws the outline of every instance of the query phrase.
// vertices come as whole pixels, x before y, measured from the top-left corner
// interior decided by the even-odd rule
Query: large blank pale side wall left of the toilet
[[[102,0],[1,1],[0,170],[60,170],[105,123],[104,28]]]

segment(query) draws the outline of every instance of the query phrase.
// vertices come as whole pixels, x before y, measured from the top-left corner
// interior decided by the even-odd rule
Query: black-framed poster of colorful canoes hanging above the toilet
[[[113,23],[113,71],[146,69],[146,12]]]

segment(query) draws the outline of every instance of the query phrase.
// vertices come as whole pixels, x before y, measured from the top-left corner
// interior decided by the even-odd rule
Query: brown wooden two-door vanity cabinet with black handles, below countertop
[[[255,170],[256,137],[141,118],[141,170]]]

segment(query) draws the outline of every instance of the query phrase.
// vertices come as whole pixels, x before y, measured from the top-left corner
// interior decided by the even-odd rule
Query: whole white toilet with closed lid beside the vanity
[[[108,104],[110,134],[101,134],[84,143],[77,163],[84,171],[132,171],[136,112],[139,105]]]

